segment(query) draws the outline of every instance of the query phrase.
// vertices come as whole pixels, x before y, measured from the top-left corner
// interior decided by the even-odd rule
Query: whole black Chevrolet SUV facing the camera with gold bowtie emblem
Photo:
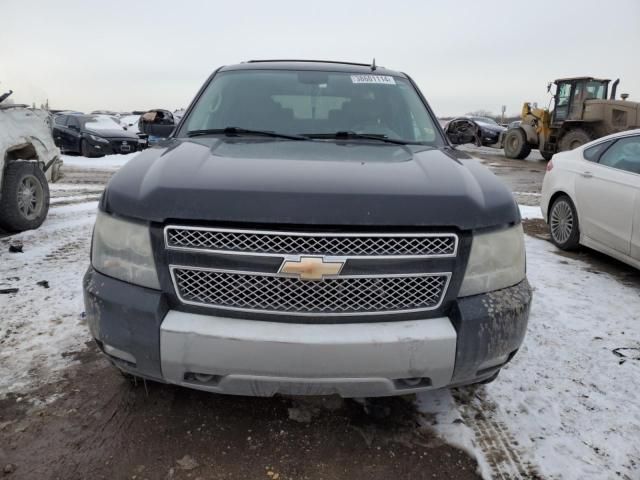
[[[216,70],[111,178],[84,298],[130,375],[376,397],[495,379],[531,288],[513,195],[410,77],[288,60]]]

